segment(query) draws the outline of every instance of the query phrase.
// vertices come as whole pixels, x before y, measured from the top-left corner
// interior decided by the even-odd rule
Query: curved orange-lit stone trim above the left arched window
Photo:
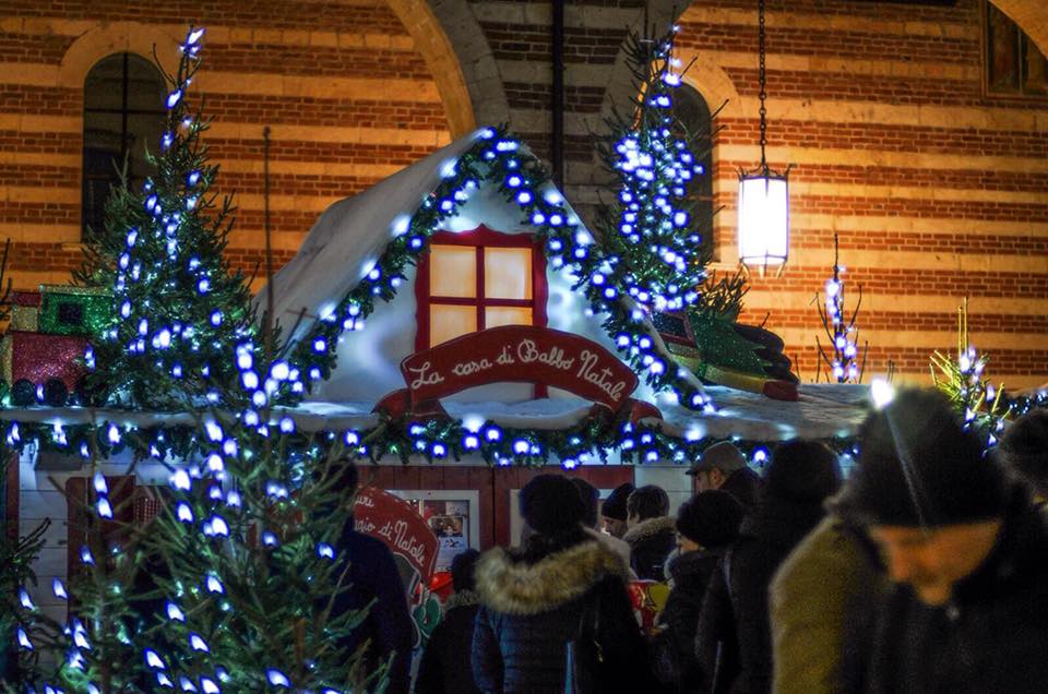
[[[176,48],[184,38],[182,29],[167,29],[138,22],[111,22],[85,32],[73,41],[58,67],[58,85],[84,88],[84,79],[96,62],[112,53],[132,52],[152,61],[154,47],[164,70],[178,65]]]

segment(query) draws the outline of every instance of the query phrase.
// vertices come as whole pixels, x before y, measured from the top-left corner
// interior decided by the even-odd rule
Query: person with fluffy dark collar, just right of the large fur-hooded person
[[[666,579],[663,565],[677,547],[677,520],[669,513],[669,494],[654,484],[639,487],[626,502],[630,529],[630,564],[642,581]]]

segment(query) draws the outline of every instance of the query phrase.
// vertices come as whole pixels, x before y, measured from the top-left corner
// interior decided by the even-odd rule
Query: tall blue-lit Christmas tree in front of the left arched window
[[[88,230],[75,273],[81,284],[112,290],[111,318],[96,326],[87,355],[97,364],[88,391],[110,404],[163,409],[186,395],[214,399],[214,385],[236,376],[234,346],[254,333],[248,284],[223,259],[233,207],[211,192],[218,167],[201,141],[209,121],[188,100],[203,32],[189,32],[178,69],[166,75],[159,153],[146,155],[156,175],[141,191],[114,190],[105,228]]]

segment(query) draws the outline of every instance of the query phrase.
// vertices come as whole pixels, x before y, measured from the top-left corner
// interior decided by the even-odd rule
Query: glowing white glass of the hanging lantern
[[[789,254],[789,192],[782,178],[739,181],[739,260],[781,265]]]

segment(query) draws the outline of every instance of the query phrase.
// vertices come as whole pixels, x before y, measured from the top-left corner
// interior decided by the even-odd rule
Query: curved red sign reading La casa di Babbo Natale
[[[584,337],[528,325],[471,333],[401,362],[412,405],[488,383],[543,383],[612,410],[636,388],[636,375]]]

